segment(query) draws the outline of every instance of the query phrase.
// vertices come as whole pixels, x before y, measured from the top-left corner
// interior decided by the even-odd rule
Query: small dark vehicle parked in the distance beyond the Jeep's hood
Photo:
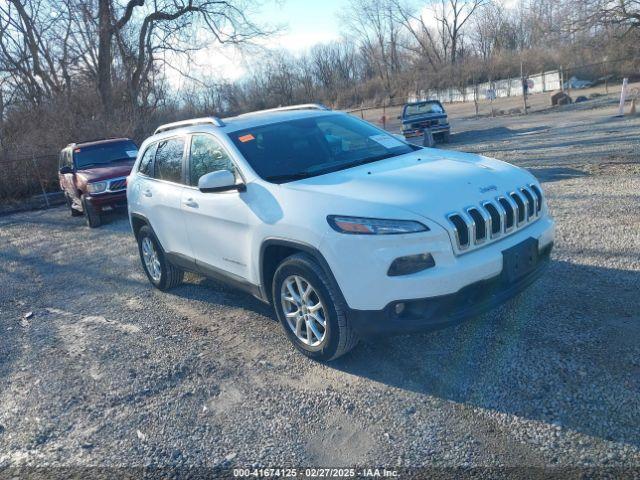
[[[402,108],[402,134],[405,138],[418,137],[426,129],[431,131],[434,140],[449,143],[451,127],[444,107],[437,100],[424,100],[407,103]]]

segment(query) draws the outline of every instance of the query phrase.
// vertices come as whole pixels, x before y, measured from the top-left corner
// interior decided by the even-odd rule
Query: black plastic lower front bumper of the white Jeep
[[[552,248],[553,243],[547,244],[539,253],[535,270],[515,282],[510,282],[502,272],[448,295],[394,301],[382,310],[350,309],[350,323],[362,336],[437,330],[461,323],[497,307],[530,286],[548,265]],[[400,314],[396,313],[399,303],[404,304]]]

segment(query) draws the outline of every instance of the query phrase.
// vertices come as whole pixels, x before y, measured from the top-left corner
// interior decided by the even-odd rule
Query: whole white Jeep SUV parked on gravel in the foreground
[[[153,285],[189,270],[245,289],[320,360],[502,303],[539,276],[554,235],[527,171],[321,105],[163,125],[127,197]]]

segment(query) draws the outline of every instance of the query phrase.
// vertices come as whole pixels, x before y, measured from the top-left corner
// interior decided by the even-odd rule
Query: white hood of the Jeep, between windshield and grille
[[[284,185],[313,193],[316,201],[326,195],[324,204],[339,208],[329,213],[362,215],[368,211],[368,216],[374,216],[370,208],[360,207],[376,204],[380,217],[395,207],[438,222],[453,211],[532,183],[538,184],[530,173],[506,162],[450,150],[422,149]]]

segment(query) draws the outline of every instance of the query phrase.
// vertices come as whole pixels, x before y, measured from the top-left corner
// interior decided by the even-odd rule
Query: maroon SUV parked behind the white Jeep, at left
[[[105,208],[127,202],[127,176],[138,154],[128,138],[71,143],[60,152],[58,177],[71,215],[84,214],[91,228],[100,226]]]

